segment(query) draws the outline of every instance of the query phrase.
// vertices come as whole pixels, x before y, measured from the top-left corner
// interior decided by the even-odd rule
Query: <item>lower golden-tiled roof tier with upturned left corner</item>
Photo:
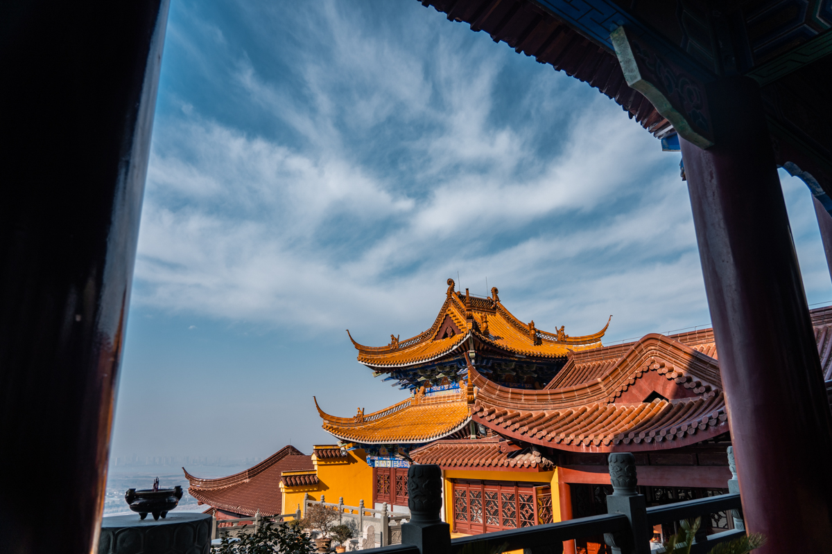
[[[323,428],[334,437],[359,444],[420,444],[453,434],[463,429],[471,417],[468,401],[460,394],[409,399],[372,414],[359,413],[352,418],[339,418],[320,409],[314,399]],[[313,397],[314,398],[314,397]]]

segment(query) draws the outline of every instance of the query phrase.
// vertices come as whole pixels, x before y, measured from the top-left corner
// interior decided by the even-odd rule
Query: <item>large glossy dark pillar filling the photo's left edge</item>
[[[0,5],[2,552],[97,552],[166,15]]]

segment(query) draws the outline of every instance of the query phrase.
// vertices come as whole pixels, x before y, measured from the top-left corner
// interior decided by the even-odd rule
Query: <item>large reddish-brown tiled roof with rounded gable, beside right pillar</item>
[[[636,451],[698,443],[728,430],[718,362],[662,335],[576,353],[544,390],[508,389],[472,373],[473,419],[527,443]]]

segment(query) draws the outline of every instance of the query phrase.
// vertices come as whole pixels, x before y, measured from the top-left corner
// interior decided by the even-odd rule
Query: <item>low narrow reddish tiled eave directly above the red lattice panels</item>
[[[552,460],[532,449],[522,449],[505,439],[437,440],[410,453],[416,463],[435,463],[443,469],[503,468],[548,471]]]

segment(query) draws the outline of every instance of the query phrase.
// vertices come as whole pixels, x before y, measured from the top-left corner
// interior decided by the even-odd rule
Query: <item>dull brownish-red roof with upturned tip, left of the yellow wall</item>
[[[275,516],[283,509],[280,493],[281,473],[314,469],[311,456],[294,446],[285,446],[257,465],[229,477],[201,479],[188,473],[188,493],[202,504],[254,516]]]

